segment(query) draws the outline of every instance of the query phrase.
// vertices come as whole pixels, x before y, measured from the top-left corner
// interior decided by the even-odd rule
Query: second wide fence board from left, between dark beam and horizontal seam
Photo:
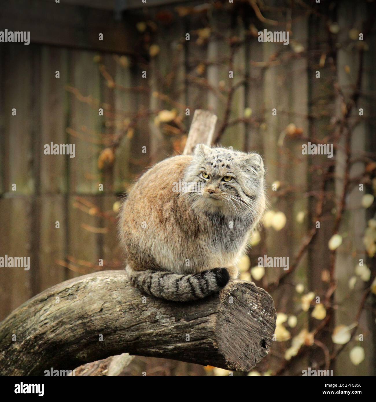
[[[60,78],[55,78],[59,71]],[[55,47],[41,48],[41,193],[67,191],[67,158],[64,155],[46,155],[44,146],[67,144],[68,51]],[[72,99],[72,98],[71,98]],[[68,137],[69,138],[69,137]]]

